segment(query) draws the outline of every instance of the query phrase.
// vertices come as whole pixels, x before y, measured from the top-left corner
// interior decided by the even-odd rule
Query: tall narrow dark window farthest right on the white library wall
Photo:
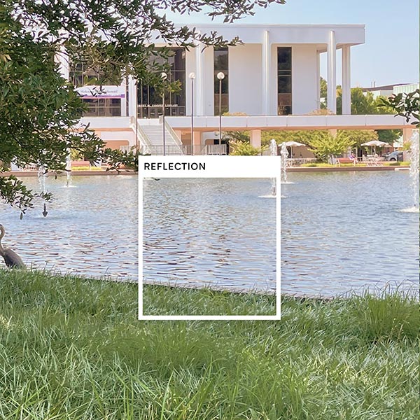
[[[277,114],[292,113],[292,48],[277,48]]]

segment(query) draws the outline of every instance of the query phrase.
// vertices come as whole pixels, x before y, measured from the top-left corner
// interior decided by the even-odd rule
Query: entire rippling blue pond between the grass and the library
[[[291,173],[288,181],[281,186],[283,292],[417,289],[419,214],[401,211],[412,206],[407,172]],[[36,177],[25,183],[39,190]],[[46,218],[43,202],[22,220],[0,204],[3,246],[32,267],[136,280],[137,176],[71,183],[47,180],[55,200]],[[144,181],[146,279],[274,289],[270,192],[263,179]]]

